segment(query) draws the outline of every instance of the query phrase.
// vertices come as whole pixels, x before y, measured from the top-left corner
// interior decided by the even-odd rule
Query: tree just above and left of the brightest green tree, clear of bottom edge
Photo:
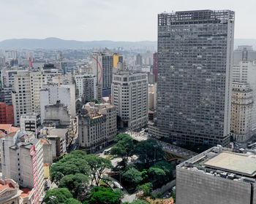
[[[84,192],[88,183],[88,176],[82,173],[76,173],[75,175],[70,174],[61,178],[61,181],[59,182],[59,187],[67,187],[69,189],[69,192],[72,193],[73,197],[77,198],[79,194]]]

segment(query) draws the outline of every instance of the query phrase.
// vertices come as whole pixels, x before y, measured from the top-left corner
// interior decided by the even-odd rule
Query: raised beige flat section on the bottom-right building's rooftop
[[[203,165],[247,176],[256,174],[256,157],[251,154],[221,152],[216,157],[204,162]]]

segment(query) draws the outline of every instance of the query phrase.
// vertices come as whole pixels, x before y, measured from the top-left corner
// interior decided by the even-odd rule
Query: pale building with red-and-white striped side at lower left
[[[39,139],[10,146],[10,178],[21,187],[34,189],[34,203],[45,190],[42,143]],[[42,200],[42,198],[41,198]]]

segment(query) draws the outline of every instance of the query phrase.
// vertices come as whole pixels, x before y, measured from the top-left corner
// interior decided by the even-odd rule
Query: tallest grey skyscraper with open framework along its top
[[[230,141],[235,13],[158,15],[157,127],[177,144]]]

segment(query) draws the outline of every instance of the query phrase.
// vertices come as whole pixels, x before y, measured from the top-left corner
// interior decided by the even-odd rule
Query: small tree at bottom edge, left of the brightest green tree
[[[46,204],[65,203],[72,194],[66,188],[50,189],[46,192],[44,202]]]

